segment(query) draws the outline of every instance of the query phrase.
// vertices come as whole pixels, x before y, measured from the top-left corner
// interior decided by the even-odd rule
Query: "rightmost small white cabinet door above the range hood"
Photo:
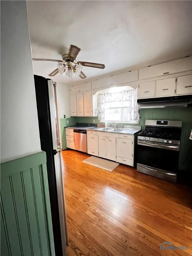
[[[177,94],[192,93],[192,75],[179,76],[177,78]]]

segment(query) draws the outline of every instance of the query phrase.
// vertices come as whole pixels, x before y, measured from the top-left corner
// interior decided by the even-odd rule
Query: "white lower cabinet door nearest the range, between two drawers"
[[[117,156],[132,159],[132,140],[117,138]]]

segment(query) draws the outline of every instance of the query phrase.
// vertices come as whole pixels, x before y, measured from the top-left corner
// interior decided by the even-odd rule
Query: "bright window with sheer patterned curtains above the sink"
[[[124,121],[138,123],[137,89],[129,86],[110,88],[98,94],[98,117],[100,122]]]

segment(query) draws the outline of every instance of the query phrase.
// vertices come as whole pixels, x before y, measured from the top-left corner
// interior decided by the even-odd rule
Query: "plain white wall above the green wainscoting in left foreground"
[[[41,151],[25,1],[1,1],[1,162]]]

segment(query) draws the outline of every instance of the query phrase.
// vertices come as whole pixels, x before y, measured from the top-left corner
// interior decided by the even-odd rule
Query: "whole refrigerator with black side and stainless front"
[[[47,156],[47,174],[55,255],[65,256],[67,225],[61,156],[61,133],[57,104],[57,84],[34,75],[41,149]]]

